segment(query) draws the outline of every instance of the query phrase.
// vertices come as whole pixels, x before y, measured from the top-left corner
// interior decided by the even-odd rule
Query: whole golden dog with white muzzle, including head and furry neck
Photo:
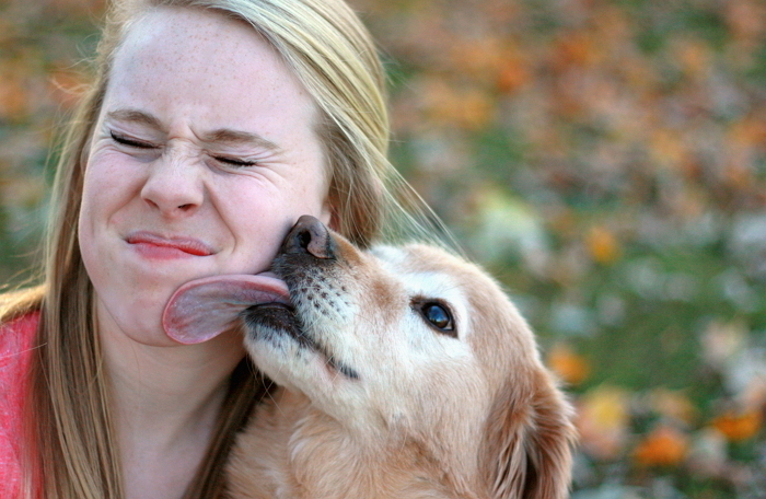
[[[255,303],[245,347],[279,388],[237,436],[232,499],[568,496],[572,408],[483,270],[426,245],[363,252],[307,216],[272,270],[233,300]]]

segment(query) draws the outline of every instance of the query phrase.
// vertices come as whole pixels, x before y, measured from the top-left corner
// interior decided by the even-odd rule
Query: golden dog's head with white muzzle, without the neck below
[[[311,217],[274,271],[290,300],[251,278],[266,294],[242,317],[275,382],[365,444],[418,446],[446,480],[498,499],[566,496],[570,407],[486,274],[430,246],[360,252]]]

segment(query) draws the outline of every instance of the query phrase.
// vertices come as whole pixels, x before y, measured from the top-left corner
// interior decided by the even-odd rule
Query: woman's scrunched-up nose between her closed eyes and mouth
[[[164,217],[193,213],[205,200],[204,171],[198,161],[166,150],[149,165],[141,198]]]

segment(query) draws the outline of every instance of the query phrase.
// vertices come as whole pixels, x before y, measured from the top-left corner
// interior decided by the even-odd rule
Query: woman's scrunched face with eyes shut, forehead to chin
[[[304,213],[329,221],[306,91],[252,27],[193,9],[138,21],[118,49],[79,221],[102,327],[147,345],[192,279],[268,268]]]

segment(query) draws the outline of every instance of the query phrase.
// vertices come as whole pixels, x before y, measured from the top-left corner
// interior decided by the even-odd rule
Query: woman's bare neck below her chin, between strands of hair
[[[146,345],[100,314],[127,498],[181,497],[202,460],[244,350],[236,335]]]

